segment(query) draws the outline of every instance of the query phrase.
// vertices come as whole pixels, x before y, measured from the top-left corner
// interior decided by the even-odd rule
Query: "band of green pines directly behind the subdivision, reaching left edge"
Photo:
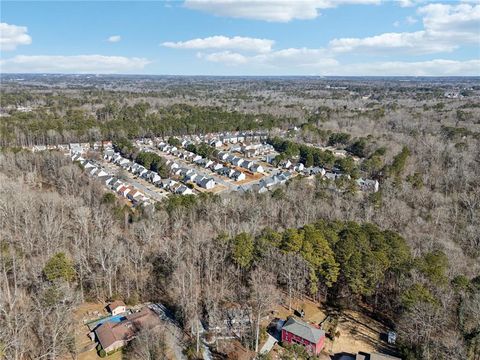
[[[105,104],[94,114],[82,108],[44,107],[14,112],[0,123],[2,145],[59,144],[117,137],[184,135],[219,131],[271,129],[288,124],[269,114],[244,114],[218,107],[175,104],[150,109],[147,102]]]

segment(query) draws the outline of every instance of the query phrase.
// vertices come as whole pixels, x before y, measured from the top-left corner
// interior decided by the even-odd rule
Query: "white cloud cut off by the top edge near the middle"
[[[189,9],[218,16],[272,22],[315,19],[319,9],[344,4],[378,4],[381,0],[185,0]]]

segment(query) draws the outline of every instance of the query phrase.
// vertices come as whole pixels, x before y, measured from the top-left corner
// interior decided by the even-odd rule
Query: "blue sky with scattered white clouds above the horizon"
[[[2,0],[0,72],[480,76],[480,0]]]

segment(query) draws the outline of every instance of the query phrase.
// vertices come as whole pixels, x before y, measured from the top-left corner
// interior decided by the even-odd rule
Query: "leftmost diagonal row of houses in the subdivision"
[[[86,160],[82,157],[82,154],[75,153],[71,155],[72,161],[78,161],[83,165],[85,171],[90,175],[96,177],[102,184],[109,189],[115,191],[120,196],[130,200],[134,205],[151,205],[152,200],[136,189],[134,186],[123,182],[116,178],[114,175],[108,173],[102,166],[95,161]]]

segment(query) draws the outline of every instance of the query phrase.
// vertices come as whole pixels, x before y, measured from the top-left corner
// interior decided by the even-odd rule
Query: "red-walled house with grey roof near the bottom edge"
[[[304,321],[290,317],[282,327],[282,342],[303,345],[308,351],[318,355],[325,344],[325,332]]]

